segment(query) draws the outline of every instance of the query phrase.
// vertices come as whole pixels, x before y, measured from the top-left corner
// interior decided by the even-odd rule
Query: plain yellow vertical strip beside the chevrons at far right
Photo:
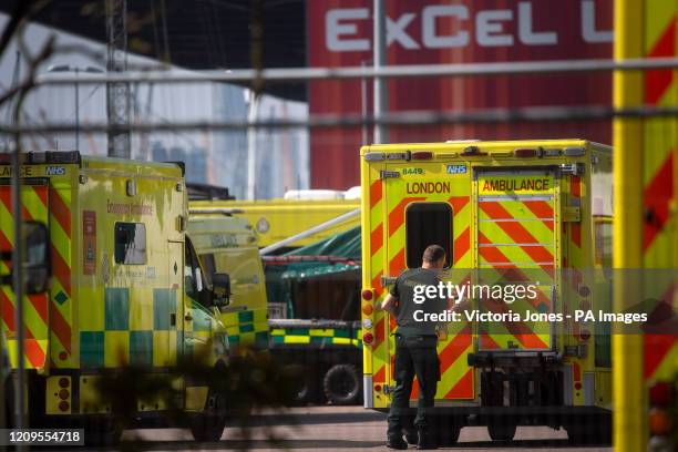
[[[615,2],[615,60],[644,56],[644,12],[646,0]],[[638,71],[615,71],[615,109],[643,104],[644,76]],[[617,117],[614,121],[614,266],[639,269],[643,263],[643,121]],[[617,270],[618,271],[618,270]],[[628,278],[615,278],[615,311],[639,300],[641,288]],[[626,284],[625,284],[626,282]],[[647,449],[647,407],[643,380],[643,338],[613,336],[613,403],[615,451]]]

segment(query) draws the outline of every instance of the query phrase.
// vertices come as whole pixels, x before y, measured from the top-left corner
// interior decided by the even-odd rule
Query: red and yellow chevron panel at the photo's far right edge
[[[678,33],[676,2],[647,4],[645,52],[648,58],[676,56]],[[656,9],[656,10],[655,10]],[[676,71],[651,70],[645,73],[645,102],[648,105],[678,105]],[[671,204],[676,202],[678,172],[678,120],[654,117],[644,122],[643,261],[646,268],[675,268],[678,230]],[[672,220],[671,220],[672,219]],[[650,287],[646,297],[662,300],[672,309],[676,287]],[[675,378],[678,371],[678,338],[675,335],[644,337],[644,376],[648,380]]]

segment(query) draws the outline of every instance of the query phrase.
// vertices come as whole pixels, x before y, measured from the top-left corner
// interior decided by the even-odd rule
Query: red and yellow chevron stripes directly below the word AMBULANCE
[[[552,310],[551,286],[554,284],[556,230],[554,229],[555,197],[481,197],[477,226],[479,267],[492,280],[534,284],[538,281],[537,298],[518,299],[512,305],[483,297],[485,311],[505,314]],[[493,271],[494,270],[494,271]],[[525,271],[523,271],[525,270]],[[530,273],[527,276],[526,271]],[[490,276],[492,275],[492,276]],[[479,326],[482,349],[548,349],[549,328],[545,322],[492,322]]]

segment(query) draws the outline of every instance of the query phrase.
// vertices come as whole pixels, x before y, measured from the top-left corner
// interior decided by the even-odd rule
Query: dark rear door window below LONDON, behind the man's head
[[[445,268],[452,261],[452,207],[448,203],[413,203],[405,209],[405,259],[408,268],[421,267],[429,245],[445,249]]]

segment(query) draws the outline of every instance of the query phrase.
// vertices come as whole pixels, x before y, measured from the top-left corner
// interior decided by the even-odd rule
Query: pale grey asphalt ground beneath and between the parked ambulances
[[[196,443],[183,429],[126,430],[123,435],[129,450],[150,451],[386,451],[386,414],[361,407],[308,407],[289,410],[285,414],[261,413],[253,418],[253,428],[243,431],[227,427],[222,440]],[[271,443],[269,438],[277,439]],[[140,441],[141,442],[136,442]],[[124,448],[124,443],[123,443]],[[119,449],[119,448],[116,448]],[[63,449],[59,449],[63,451]],[[112,449],[109,449],[112,450]],[[410,446],[414,450],[414,446]],[[567,433],[546,427],[520,427],[515,439],[507,443],[490,440],[484,427],[462,429],[454,451],[612,451],[610,446],[573,446]]]

